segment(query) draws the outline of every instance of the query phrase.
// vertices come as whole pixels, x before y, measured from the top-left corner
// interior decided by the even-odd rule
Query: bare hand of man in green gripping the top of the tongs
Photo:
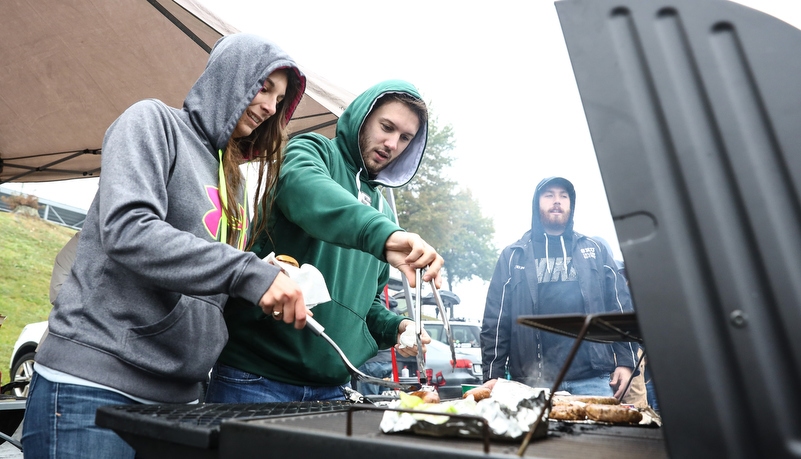
[[[423,282],[434,279],[437,288],[442,286],[439,270],[445,260],[417,234],[395,231],[384,244],[384,255],[390,265],[406,275],[410,287],[417,287],[415,269],[426,266],[428,270],[423,275]]]

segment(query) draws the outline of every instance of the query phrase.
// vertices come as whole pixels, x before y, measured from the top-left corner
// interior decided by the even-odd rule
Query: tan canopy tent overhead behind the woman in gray
[[[2,2],[0,184],[98,176],[106,128],[141,99],[180,107],[235,32],[194,0]],[[331,138],[354,96],[301,68],[290,135]]]

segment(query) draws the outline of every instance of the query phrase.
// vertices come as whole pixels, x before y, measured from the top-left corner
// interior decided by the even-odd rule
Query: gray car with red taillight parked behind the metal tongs
[[[451,348],[447,344],[432,339],[426,345],[426,374],[431,385],[437,387],[442,400],[461,398],[462,384],[482,382],[481,356],[465,354],[461,352],[462,349],[456,348],[456,368],[453,368]],[[411,376],[417,376],[415,357],[399,357],[397,360],[398,372],[405,366]]]

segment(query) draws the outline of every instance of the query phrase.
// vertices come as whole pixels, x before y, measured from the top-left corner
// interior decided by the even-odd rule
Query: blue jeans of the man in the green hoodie
[[[295,386],[218,363],[211,371],[206,403],[273,403],[345,400],[343,386]]]

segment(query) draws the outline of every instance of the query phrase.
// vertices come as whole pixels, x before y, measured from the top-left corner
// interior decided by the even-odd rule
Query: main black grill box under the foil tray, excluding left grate
[[[481,440],[383,434],[383,413],[353,413],[352,435],[347,436],[347,413],[291,419],[248,419],[222,426],[219,457],[303,457],[304,459],[463,459],[516,458],[520,441],[497,441],[484,453]],[[524,457],[667,459],[662,429],[572,425],[551,422],[548,437],[532,441]]]

